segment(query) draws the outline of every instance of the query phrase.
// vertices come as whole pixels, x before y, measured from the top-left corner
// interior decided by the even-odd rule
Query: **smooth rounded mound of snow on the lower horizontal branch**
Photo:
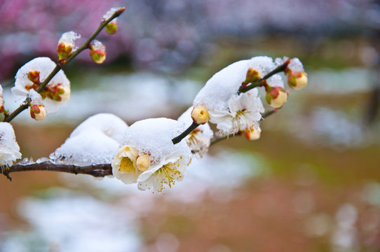
[[[91,116],[70,134],[70,137],[51,153],[51,162],[66,165],[110,164],[120,146],[128,125],[109,113]]]

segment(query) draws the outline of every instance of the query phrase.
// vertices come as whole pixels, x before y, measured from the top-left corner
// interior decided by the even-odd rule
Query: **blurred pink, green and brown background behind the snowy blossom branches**
[[[240,59],[299,57],[308,86],[290,90],[262,137],[233,137],[194,160],[165,195],[112,178],[53,172],[0,177],[0,251],[380,251],[380,6],[371,0],[0,1],[0,83],[34,57],[57,61],[126,6],[105,64],[65,66],[68,106],[13,120],[23,158],[47,157],[95,113],[128,124],[177,118],[204,83]]]

